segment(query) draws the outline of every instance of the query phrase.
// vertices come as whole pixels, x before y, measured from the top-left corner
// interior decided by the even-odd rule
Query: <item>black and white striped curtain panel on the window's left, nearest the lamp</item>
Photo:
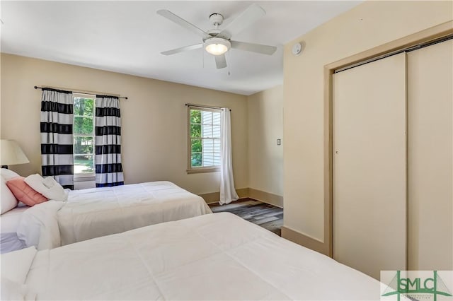
[[[42,176],[52,176],[62,187],[69,189],[74,189],[73,110],[72,93],[42,88]]]

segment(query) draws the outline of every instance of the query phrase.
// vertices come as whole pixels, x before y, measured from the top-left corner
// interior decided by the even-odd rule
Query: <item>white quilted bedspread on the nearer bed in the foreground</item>
[[[37,300],[379,300],[379,282],[231,213],[36,254]]]

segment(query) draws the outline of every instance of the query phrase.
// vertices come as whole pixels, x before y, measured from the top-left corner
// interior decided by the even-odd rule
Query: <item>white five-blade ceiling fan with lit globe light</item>
[[[200,44],[189,45],[161,52],[161,54],[164,55],[176,54],[204,47],[208,53],[214,55],[217,69],[222,69],[226,67],[225,52],[229,51],[231,48],[269,55],[273,54],[277,50],[277,47],[275,46],[231,40],[233,35],[241,32],[248,25],[251,25],[265,15],[266,12],[264,9],[257,4],[248,6],[245,11],[243,11],[236,19],[232,20],[231,23],[229,23],[226,28],[222,30],[219,29],[219,25],[222,25],[224,17],[220,13],[212,13],[210,15],[210,21],[214,25],[214,28],[207,31],[197,28],[197,26],[176,16],[171,11],[161,9],[157,11],[157,13],[202,37],[202,43]]]

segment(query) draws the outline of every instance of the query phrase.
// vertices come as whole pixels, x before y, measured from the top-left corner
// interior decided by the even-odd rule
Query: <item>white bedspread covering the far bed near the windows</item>
[[[200,196],[160,181],[74,190],[66,202],[47,201],[27,213],[19,238],[47,249],[212,211]]]

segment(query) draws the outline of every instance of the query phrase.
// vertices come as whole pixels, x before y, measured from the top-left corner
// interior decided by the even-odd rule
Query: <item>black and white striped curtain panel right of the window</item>
[[[96,95],[96,187],[124,184],[121,165],[120,100]]]

